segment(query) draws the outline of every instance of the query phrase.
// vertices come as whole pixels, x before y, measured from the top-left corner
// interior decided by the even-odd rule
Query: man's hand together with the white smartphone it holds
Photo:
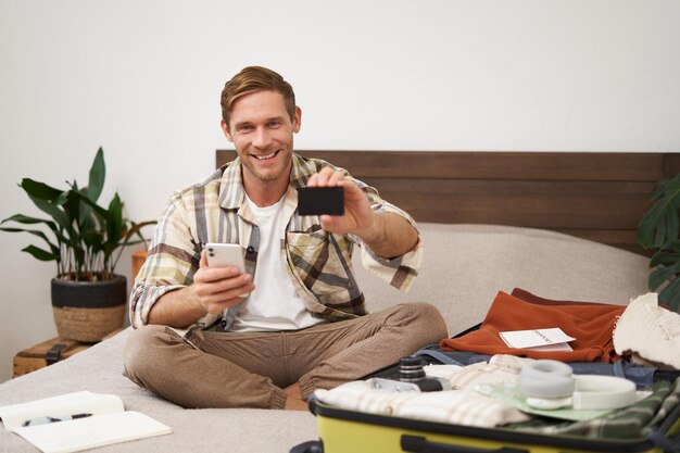
[[[193,287],[207,313],[221,313],[242,302],[255,289],[252,276],[245,273],[242,248],[230,243],[205,244]]]

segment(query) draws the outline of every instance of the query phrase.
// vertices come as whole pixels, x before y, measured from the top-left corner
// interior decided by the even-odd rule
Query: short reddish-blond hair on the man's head
[[[278,73],[263,66],[247,66],[231,77],[222,90],[222,119],[229,127],[234,102],[242,96],[255,91],[276,91],[281,93],[286,102],[286,111],[292,121],[295,115],[295,93],[293,87]]]

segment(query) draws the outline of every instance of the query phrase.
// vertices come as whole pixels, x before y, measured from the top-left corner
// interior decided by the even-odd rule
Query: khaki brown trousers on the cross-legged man
[[[187,341],[167,327],[149,325],[131,334],[125,372],[137,385],[184,407],[282,408],[285,387],[299,382],[306,398],[446,336],[441,314],[427,303],[302,330],[191,332]]]

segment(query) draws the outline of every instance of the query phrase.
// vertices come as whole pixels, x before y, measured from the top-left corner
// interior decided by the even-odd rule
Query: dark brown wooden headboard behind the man
[[[638,222],[680,153],[300,151],[347,168],[417,222],[552,229],[637,253]],[[218,150],[217,166],[236,153]]]

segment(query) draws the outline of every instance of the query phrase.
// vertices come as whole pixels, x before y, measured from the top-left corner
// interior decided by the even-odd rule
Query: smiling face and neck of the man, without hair
[[[255,91],[234,102],[229,125],[223,122],[222,128],[241,158],[247,189],[280,186],[285,190],[292,166],[293,134],[300,130],[300,109],[295,108],[291,118],[277,91]]]

